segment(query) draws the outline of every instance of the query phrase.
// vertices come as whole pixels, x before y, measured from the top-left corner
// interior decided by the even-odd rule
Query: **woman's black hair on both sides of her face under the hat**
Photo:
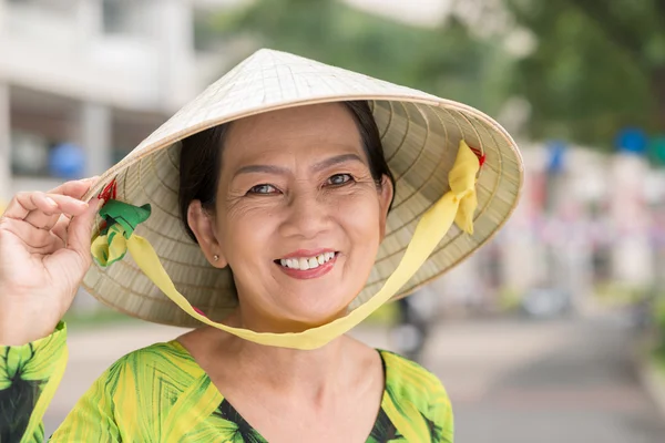
[[[379,128],[374,120],[369,104],[366,101],[341,102],[354,116],[362,150],[369,163],[369,171],[377,184],[381,187],[383,176],[387,176],[395,188],[395,177],[388,167]],[[222,168],[222,151],[228,134],[231,123],[211,127],[194,135],[183,138],[180,156],[180,214],[184,228],[190,237],[196,237],[187,223],[187,210],[193,200],[201,200],[205,209],[215,207],[215,196],[219,183]],[[395,194],[393,194],[395,197]],[[392,205],[392,202],[390,202]]]

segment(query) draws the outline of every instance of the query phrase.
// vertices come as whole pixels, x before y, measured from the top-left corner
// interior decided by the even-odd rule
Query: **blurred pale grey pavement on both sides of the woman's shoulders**
[[[47,432],[120,356],[177,334],[143,323],[73,331]],[[390,349],[382,329],[356,334]],[[434,330],[423,364],[447,385],[458,442],[665,442],[665,420],[637,382],[628,336],[616,321],[456,322]]]

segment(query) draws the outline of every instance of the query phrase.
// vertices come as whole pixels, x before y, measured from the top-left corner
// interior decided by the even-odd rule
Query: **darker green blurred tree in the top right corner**
[[[536,41],[512,85],[531,136],[610,150],[624,126],[665,132],[665,1],[502,1]]]

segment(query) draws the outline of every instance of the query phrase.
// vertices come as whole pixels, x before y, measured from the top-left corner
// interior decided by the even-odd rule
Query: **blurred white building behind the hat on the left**
[[[226,68],[237,0],[0,0],[0,198],[106,169]]]

